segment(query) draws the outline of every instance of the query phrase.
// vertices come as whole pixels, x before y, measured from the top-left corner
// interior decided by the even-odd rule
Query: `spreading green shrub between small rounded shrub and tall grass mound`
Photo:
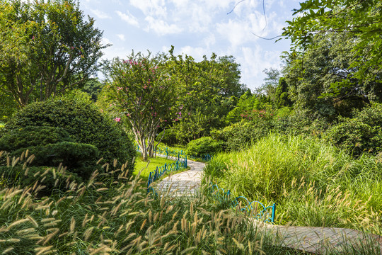
[[[238,151],[267,135],[270,128],[267,122],[241,121],[221,130],[213,130],[211,136],[221,141],[225,150]]]

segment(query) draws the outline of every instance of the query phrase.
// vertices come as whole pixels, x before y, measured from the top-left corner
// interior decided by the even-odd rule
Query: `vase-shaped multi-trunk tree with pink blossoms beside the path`
[[[174,83],[166,72],[164,57],[132,52],[126,60],[110,62],[108,74],[110,106],[120,115],[115,121],[125,117],[146,161],[154,154],[158,128],[176,118],[171,110],[176,101]]]

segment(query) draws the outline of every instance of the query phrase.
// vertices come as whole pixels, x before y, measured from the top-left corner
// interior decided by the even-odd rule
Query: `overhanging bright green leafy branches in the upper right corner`
[[[363,82],[381,81],[382,68],[382,1],[381,0],[306,0],[294,10],[292,21],[284,28],[294,50],[314,47],[314,37],[327,33],[354,38],[349,67],[351,75],[332,84],[331,93],[339,95],[352,86],[352,79]]]

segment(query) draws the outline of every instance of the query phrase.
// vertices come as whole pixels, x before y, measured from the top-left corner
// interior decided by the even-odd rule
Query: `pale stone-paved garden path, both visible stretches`
[[[190,170],[166,177],[157,184],[156,190],[175,196],[195,194],[200,186],[205,164],[191,160],[187,164]],[[382,255],[382,237],[376,234],[364,234],[354,229],[337,227],[294,227],[255,222],[256,227],[269,231],[278,240],[282,240],[282,246],[310,254],[342,254],[346,252],[347,244],[354,248],[376,246]]]

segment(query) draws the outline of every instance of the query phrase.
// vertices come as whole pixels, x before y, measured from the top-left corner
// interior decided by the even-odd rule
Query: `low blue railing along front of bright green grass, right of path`
[[[270,206],[265,206],[259,201],[250,202],[250,200],[243,196],[231,198],[231,192],[229,190],[224,191],[224,188],[219,188],[217,184],[212,184],[210,191],[213,198],[220,203],[227,203],[231,208],[238,208],[241,212],[245,212],[257,220],[274,223],[274,215],[276,213],[275,203]],[[270,210],[272,212],[270,212]]]

